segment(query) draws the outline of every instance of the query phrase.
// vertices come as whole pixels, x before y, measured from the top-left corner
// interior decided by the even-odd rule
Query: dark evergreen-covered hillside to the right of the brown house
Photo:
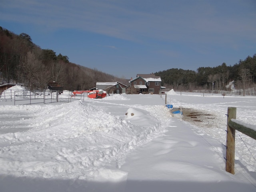
[[[256,88],[256,54],[240,60],[234,66],[226,63],[217,67],[200,67],[197,71],[172,68],[155,73],[162,79],[162,85],[174,90],[226,90],[234,80],[236,89]]]

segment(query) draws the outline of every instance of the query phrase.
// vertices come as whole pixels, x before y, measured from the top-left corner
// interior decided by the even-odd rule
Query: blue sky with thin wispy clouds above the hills
[[[256,54],[255,0],[0,0],[0,26],[120,78]]]

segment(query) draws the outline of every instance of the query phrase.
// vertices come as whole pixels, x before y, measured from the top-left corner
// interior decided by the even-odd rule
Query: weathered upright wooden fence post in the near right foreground
[[[228,122],[236,119],[236,107],[228,107]],[[235,137],[236,130],[227,122],[227,142],[226,142],[226,171],[235,174]]]

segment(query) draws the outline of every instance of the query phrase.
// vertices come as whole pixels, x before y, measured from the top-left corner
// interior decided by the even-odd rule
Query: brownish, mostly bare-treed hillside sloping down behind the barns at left
[[[69,62],[68,56],[56,55],[54,50],[41,49],[28,34],[0,27],[0,84],[22,83],[30,90],[43,90],[51,81],[65,90],[93,88],[97,81],[128,84],[128,80]]]

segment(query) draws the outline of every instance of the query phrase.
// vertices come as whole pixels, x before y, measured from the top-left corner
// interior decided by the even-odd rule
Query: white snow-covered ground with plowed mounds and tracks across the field
[[[167,102],[207,116],[172,117],[164,95],[15,106],[0,98],[0,191],[256,191],[255,140],[236,132],[234,175],[224,160],[227,108],[256,124],[256,97],[171,91]]]

